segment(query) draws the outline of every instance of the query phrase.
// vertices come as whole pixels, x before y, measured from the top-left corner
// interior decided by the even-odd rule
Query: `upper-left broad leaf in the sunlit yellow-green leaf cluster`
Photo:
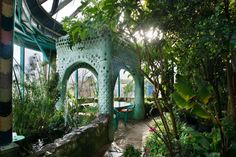
[[[191,82],[182,76],[177,76],[177,82],[175,83],[174,86],[177,92],[186,101],[189,101],[195,96]]]

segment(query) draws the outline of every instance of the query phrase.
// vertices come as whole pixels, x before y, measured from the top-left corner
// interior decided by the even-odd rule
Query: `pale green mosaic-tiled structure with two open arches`
[[[58,105],[63,106],[66,79],[79,65],[86,65],[97,74],[98,106],[100,114],[113,118],[113,89],[120,69],[127,69],[135,81],[134,118],[144,118],[144,79],[140,72],[138,55],[122,40],[112,41],[109,32],[97,32],[94,36],[77,43],[69,44],[69,36],[59,38],[57,48],[57,71],[61,87]],[[110,139],[113,137],[113,121],[110,120]]]

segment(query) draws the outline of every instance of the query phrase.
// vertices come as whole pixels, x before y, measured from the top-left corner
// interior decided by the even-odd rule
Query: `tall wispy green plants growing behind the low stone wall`
[[[38,65],[38,77],[32,79],[30,72],[24,84],[24,99],[15,84],[13,94],[13,131],[27,138],[56,138],[71,131],[73,128],[89,124],[96,117],[97,107],[82,107],[70,95],[67,100],[69,121],[65,125],[65,110],[56,110],[55,104],[59,99],[58,74],[52,73],[50,79],[45,75],[44,67]],[[70,103],[69,103],[70,102]],[[48,136],[50,134],[50,136]],[[55,136],[54,136],[55,135]]]

